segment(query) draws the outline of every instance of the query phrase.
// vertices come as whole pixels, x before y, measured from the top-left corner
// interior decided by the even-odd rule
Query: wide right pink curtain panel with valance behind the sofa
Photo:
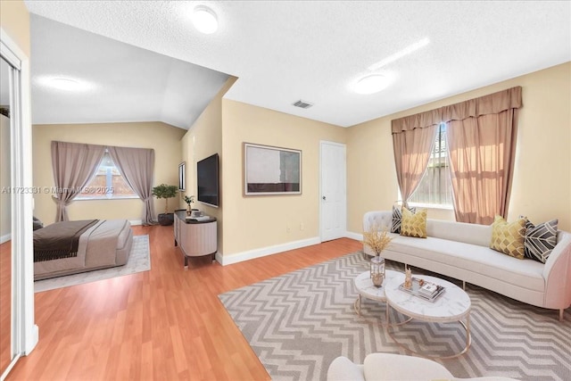
[[[457,221],[507,217],[521,105],[521,87],[513,87],[443,108]]]

